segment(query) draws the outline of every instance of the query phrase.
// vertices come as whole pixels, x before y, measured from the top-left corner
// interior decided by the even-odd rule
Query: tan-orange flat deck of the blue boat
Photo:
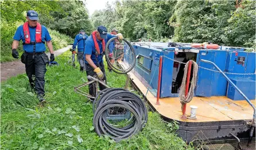
[[[136,84],[142,94],[145,96],[147,87],[142,84],[132,72],[128,73],[130,79]],[[226,96],[212,96],[206,97],[194,97],[190,103],[187,104],[186,114],[190,115],[189,106],[197,106],[196,119],[180,118],[181,103],[179,98],[161,98],[160,105],[156,105],[156,97],[148,92],[146,99],[154,110],[159,112],[162,116],[186,122],[208,122],[208,121],[232,121],[232,120],[251,120],[253,119],[253,108],[246,102],[246,100],[234,101],[228,99]],[[255,104],[255,100],[251,100],[251,103]]]

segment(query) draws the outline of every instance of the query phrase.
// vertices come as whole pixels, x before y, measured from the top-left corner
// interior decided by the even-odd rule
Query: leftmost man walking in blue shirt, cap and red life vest
[[[26,17],[27,22],[18,27],[13,37],[12,55],[19,58],[17,51],[19,41],[22,40],[24,52],[21,55],[21,62],[25,64],[26,75],[29,83],[36,90],[38,99],[41,103],[46,102],[44,99],[44,75],[46,72],[46,63],[49,58],[45,54],[45,43],[51,53],[51,62],[54,61],[53,47],[51,36],[45,26],[38,23],[38,14],[36,11],[29,10]]]

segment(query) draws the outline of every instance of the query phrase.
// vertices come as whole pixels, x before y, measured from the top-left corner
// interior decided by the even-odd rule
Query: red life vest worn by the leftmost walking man
[[[42,42],[42,26],[37,22],[36,26],[36,42],[30,41],[30,33],[29,33],[29,23],[25,22],[23,25],[23,32],[25,37],[25,42],[22,44],[36,44],[36,43],[44,43]]]

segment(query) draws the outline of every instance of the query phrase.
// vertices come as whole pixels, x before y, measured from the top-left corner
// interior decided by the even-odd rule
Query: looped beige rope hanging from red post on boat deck
[[[185,64],[185,68],[184,68],[184,76],[183,76],[183,80],[181,83],[181,87],[180,87],[180,93],[179,93],[179,98],[180,98],[180,102],[181,104],[185,104],[185,103],[189,103],[191,102],[193,96],[194,96],[194,89],[196,87],[196,79],[197,79],[197,71],[198,71],[198,65],[196,62],[194,62],[193,60],[192,64],[193,64],[193,78],[191,80],[191,87],[189,88],[189,92],[187,97],[185,96],[185,88],[186,88],[186,80],[187,80],[187,72],[188,72],[188,63],[189,61]]]

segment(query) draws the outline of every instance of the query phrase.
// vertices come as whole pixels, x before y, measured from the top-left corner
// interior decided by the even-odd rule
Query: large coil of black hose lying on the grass
[[[110,109],[121,108],[131,115],[124,127],[113,125],[107,120]],[[135,135],[148,121],[148,110],[138,95],[123,88],[107,88],[100,91],[94,100],[94,127],[99,136],[107,135],[115,141],[128,139]]]

